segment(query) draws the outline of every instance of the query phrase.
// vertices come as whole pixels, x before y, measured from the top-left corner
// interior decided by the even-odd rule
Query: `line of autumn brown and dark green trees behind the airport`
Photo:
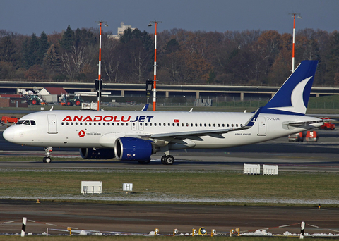
[[[153,80],[154,35],[125,30],[102,34],[102,80]],[[98,76],[99,30],[40,36],[0,30],[0,79],[93,82]],[[314,84],[339,86],[339,32],[298,30],[295,66],[319,60]],[[157,32],[157,79],[162,84],[281,85],[291,73],[292,35],[275,30]]]

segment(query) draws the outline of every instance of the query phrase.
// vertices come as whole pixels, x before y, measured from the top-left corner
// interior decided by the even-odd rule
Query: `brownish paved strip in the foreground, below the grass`
[[[66,230],[95,230],[100,233],[149,234],[155,228],[160,234],[192,233],[192,228],[204,227],[210,233],[230,233],[240,228],[242,233],[266,229],[272,234],[299,233],[302,221],[307,233],[335,233],[338,230],[339,209],[277,206],[218,206],[173,204],[84,204],[65,202],[36,202],[0,200],[0,234],[20,233],[21,220],[27,217],[26,232],[41,234],[46,228]],[[53,224],[53,225],[49,225]],[[277,228],[284,225],[285,227]],[[314,228],[310,225],[316,225]],[[339,232],[339,230],[338,230]],[[49,230],[50,234],[62,232]],[[67,232],[64,232],[66,234]],[[112,233],[110,233],[112,235]]]

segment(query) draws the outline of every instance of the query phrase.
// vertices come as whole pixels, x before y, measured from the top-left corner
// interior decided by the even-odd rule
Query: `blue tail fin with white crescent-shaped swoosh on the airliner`
[[[304,115],[318,61],[302,61],[261,113]]]

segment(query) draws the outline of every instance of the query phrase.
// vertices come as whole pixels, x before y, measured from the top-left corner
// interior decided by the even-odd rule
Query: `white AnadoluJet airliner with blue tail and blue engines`
[[[305,116],[318,61],[302,61],[282,87],[255,113],[172,111],[41,111],[4,131],[8,142],[44,147],[77,147],[84,159],[174,163],[174,149],[225,148],[254,144],[318,128]]]

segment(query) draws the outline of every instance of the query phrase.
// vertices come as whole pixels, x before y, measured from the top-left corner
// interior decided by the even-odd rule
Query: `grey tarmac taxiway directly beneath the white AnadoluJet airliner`
[[[0,129],[1,130],[1,129]],[[3,128],[4,130],[4,128]],[[0,168],[128,168],[128,169],[180,169],[180,170],[242,170],[244,163],[278,165],[279,171],[339,171],[339,131],[318,130],[319,142],[288,142],[281,137],[270,142],[228,149],[187,149],[171,151],[174,165],[162,165],[162,153],[152,156],[149,165],[136,161],[102,161],[81,159],[78,149],[54,149],[52,163],[42,163],[41,147],[22,147],[6,142],[0,133],[0,156],[40,156],[39,161],[0,161]],[[53,160],[59,156],[60,161]],[[76,157],[68,161],[69,157]]]

